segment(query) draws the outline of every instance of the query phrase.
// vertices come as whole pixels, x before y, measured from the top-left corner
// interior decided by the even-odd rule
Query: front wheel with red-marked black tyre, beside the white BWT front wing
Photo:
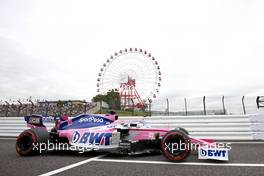
[[[169,131],[161,140],[161,150],[170,161],[182,161],[190,154],[190,139],[182,130]]]

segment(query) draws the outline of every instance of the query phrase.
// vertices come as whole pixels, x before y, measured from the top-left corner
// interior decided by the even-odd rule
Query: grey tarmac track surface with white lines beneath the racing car
[[[228,162],[198,160],[197,154],[191,154],[184,162],[173,163],[161,154],[49,151],[21,157],[16,154],[15,139],[1,138],[0,175],[264,175],[264,142],[234,142],[231,147]]]

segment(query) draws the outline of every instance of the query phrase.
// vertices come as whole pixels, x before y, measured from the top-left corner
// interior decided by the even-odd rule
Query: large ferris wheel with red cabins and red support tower
[[[121,105],[131,103],[143,106],[156,98],[161,86],[158,61],[145,50],[129,48],[114,53],[106,59],[97,78],[97,92],[119,91]]]

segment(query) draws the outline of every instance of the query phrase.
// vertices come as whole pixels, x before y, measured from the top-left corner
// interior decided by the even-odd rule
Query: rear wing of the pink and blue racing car
[[[38,128],[38,127],[44,127],[44,122],[56,122],[59,120],[59,117],[53,117],[53,116],[41,116],[41,115],[30,115],[30,116],[25,116],[24,120],[27,123],[28,127],[31,128]]]

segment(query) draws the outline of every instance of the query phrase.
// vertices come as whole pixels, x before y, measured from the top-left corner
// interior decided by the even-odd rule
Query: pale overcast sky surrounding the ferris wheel
[[[111,54],[159,61],[159,98],[264,95],[264,1],[0,0],[0,99],[87,99]]]

